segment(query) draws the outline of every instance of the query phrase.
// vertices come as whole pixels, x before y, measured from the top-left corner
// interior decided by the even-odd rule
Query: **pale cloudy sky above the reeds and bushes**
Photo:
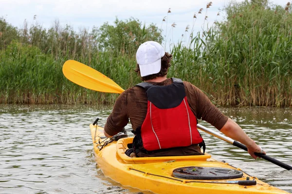
[[[271,2],[284,6],[288,1]],[[191,31],[193,16],[201,8],[203,11],[202,14],[197,14],[194,32],[206,29],[207,24],[211,26],[215,20],[224,19],[224,12],[221,10],[230,0],[212,0],[212,6],[206,14],[208,2],[210,0],[0,0],[0,17],[18,28],[23,27],[25,19],[29,26],[37,22],[45,28],[51,27],[57,19],[62,26],[69,24],[75,30],[91,30],[93,26],[99,27],[105,22],[112,24],[116,17],[120,20],[134,17],[146,25],[156,24],[164,31],[163,35],[166,35],[169,43],[177,43],[189,36],[185,29],[189,25],[189,32]],[[169,8],[171,13],[167,14]],[[164,16],[167,16],[167,26],[166,22],[162,22]],[[207,20],[205,16],[208,16]],[[174,22],[176,27],[171,28]]]

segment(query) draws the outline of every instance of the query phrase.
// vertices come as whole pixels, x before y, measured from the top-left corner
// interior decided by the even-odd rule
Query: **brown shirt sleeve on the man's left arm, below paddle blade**
[[[127,90],[124,91],[115,101],[112,112],[105,125],[105,131],[110,135],[116,135],[128,124],[127,114]]]

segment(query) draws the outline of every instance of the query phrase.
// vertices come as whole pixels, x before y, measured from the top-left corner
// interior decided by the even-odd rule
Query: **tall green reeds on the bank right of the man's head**
[[[291,5],[258,2],[229,4],[225,21],[172,50],[172,70],[218,105],[292,106]]]

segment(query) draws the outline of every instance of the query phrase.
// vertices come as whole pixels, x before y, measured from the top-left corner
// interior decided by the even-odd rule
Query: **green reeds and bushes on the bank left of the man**
[[[113,103],[117,95],[96,93],[68,81],[62,65],[68,59],[80,61],[125,88],[137,81],[130,71],[135,66],[133,52],[146,40],[159,41],[160,33],[154,25],[142,26],[134,19],[116,19],[115,24],[75,32],[68,25],[61,27],[58,21],[49,30],[37,23],[30,28],[24,23],[23,29],[17,29],[1,19],[0,103]],[[127,34],[124,28],[128,28]],[[11,29],[17,33],[9,33]],[[101,41],[105,32],[113,37],[107,34],[107,40]],[[121,41],[112,41],[115,38]],[[101,48],[102,43],[107,46]]]

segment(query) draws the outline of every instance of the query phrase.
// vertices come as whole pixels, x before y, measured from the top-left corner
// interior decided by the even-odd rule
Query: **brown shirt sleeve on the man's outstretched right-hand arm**
[[[186,81],[184,86],[190,108],[196,117],[210,123],[216,129],[222,129],[228,117],[221,113],[199,88]]]

